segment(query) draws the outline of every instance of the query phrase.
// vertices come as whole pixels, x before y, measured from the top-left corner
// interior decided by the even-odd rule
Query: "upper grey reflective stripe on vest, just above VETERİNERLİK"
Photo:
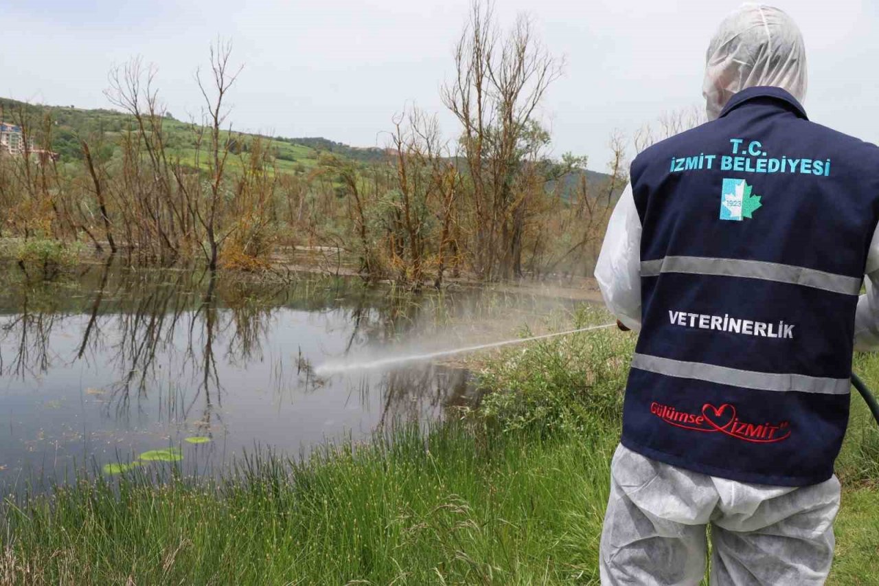
[[[858,295],[861,279],[846,275],[834,275],[814,268],[782,265],[762,260],[714,259],[698,256],[666,256],[663,259],[644,260],[641,276],[658,276],[661,273],[686,273],[688,275],[717,275],[785,282],[815,289],[824,289],[843,295]]]

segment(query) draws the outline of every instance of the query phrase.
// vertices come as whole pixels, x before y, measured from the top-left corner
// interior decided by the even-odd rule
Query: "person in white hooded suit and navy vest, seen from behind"
[[[602,584],[699,584],[708,525],[712,584],[830,571],[852,352],[879,341],[879,149],[805,93],[793,20],[745,4],[708,47],[708,122],[631,165],[595,270],[639,332]]]

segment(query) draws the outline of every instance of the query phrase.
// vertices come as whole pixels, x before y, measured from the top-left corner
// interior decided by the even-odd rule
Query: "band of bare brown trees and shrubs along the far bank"
[[[529,18],[504,31],[492,4],[476,0],[454,47],[440,89],[454,138],[436,114],[410,108],[392,119],[383,155],[325,150],[299,172],[280,170],[271,139],[233,131],[227,104],[242,68],[228,41],[212,45],[196,76],[203,110],[187,124],[185,152],[168,131],[156,68],[140,58],[114,68],[105,91],[127,124],[76,136],[76,165],[30,152],[54,143],[50,114],[8,108],[25,153],[0,157],[0,236],[210,269],[265,270],[273,253],[298,250],[327,270],[413,289],[459,276],[588,274],[627,181],[622,136],[611,137],[601,183],[587,179],[585,157],[548,155],[539,112],[564,63]]]

